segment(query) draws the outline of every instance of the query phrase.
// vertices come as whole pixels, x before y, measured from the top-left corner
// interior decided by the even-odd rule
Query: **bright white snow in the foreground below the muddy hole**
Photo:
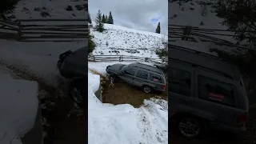
[[[99,71],[103,73],[102,67]],[[94,70],[97,68],[94,67]],[[160,99],[145,100],[138,109],[128,104],[103,104],[96,98],[100,76],[88,72],[89,143],[168,143],[168,106]]]

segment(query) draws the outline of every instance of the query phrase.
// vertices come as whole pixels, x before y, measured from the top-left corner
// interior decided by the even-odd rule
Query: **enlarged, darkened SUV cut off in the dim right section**
[[[222,58],[169,46],[170,121],[186,138],[210,130],[245,131],[249,101],[237,66]]]

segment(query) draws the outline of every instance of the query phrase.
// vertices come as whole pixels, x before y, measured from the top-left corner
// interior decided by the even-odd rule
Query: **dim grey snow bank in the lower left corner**
[[[22,138],[34,127],[38,110],[38,83],[14,79],[2,73],[0,79],[0,123],[3,126],[0,126],[0,139],[8,141],[15,134]]]

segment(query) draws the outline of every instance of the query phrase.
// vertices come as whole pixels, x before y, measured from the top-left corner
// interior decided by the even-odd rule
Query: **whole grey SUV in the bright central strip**
[[[164,73],[156,66],[143,63],[114,64],[107,66],[106,72],[110,74],[111,82],[121,79],[130,85],[141,87],[145,93],[166,90]]]

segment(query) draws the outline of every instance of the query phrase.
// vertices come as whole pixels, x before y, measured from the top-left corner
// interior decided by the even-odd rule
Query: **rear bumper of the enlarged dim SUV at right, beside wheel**
[[[228,126],[217,122],[210,122],[210,127],[214,130],[228,130],[234,133],[242,133],[246,131],[246,126]]]

